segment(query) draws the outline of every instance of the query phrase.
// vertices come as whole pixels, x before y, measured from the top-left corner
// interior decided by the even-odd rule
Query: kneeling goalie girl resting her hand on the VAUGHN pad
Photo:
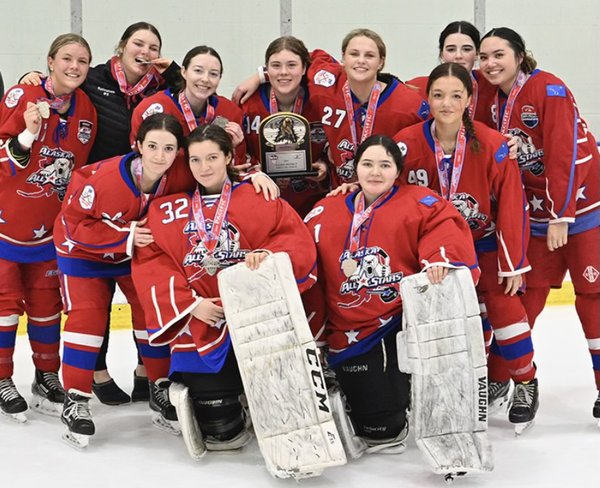
[[[400,281],[426,269],[439,283],[454,266],[479,275],[469,227],[452,205],[427,188],[395,184],[402,160],[391,138],[369,137],[356,153],[362,190],[321,200],[305,219],[319,263],[307,315],[318,317],[313,334],[328,346],[367,452],[402,452],[408,435],[409,376],[396,352]]]

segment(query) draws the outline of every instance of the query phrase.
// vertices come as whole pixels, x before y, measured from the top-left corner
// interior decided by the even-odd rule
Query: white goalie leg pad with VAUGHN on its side
[[[487,438],[487,367],[471,273],[450,271],[432,285],[425,273],[400,284],[401,369],[412,374],[417,446],[440,474],[491,471]]]

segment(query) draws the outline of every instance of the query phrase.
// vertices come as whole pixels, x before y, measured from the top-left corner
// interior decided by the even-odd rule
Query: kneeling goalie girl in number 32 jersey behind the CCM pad
[[[256,269],[269,252],[285,251],[303,292],[314,283],[316,253],[284,200],[265,201],[236,182],[231,139],[222,128],[192,131],[187,154],[198,186],[150,206],[154,242],[134,256],[133,278],[150,344],[171,346],[171,378],[189,388],[207,449],[235,450],[251,435],[217,275],[240,262]]]

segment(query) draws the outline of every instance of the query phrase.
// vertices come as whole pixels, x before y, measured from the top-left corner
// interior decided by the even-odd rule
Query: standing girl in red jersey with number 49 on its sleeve
[[[477,292],[516,385],[509,420],[522,430],[538,408],[531,331],[517,295],[531,269],[527,205],[506,139],[469,116],[471,81],[458,64],[436,67],[427,82],[433,120],[403,129],[394,139],[405,152],[402,180],[440,193],[471,228],[481,267]],[[530,391],[528,404],[521,401],[524,388]]]

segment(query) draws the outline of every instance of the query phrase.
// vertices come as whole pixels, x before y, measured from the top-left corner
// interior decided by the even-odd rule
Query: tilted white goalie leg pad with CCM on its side
[[[258,445],[271,475],[346,463],[317,346],[287,254],[219,273],[219,291]]]

